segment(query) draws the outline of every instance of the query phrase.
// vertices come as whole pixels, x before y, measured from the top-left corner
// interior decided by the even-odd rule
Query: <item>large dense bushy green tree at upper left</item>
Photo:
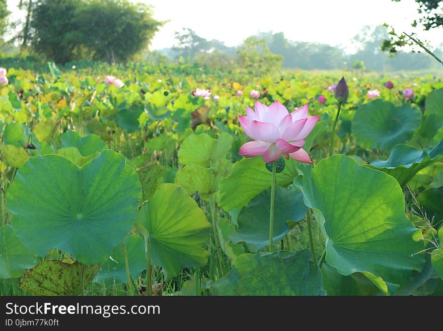
[[[145,49],[162,24],[151,7],[126,0],[38,0],[30,38],[36,52],[55,62],[117,62]]]

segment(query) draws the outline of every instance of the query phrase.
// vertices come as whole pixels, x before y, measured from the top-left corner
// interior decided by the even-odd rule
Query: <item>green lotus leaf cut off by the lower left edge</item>
[[[36,256],[14,234],[12,226],[0,227],[0,279],[20,277],[35,263]]]

